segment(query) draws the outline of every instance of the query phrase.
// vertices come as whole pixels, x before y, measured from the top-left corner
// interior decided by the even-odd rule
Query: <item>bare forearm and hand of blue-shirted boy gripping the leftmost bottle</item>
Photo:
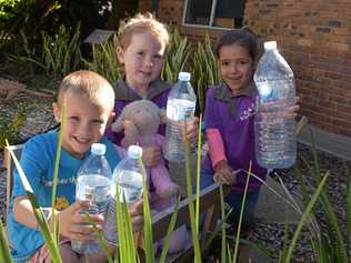
[[[86,202],[76,202],[68,206],[66,210],[57,211],[53,213],[57,216],[60,234],[72,239],[72,240],[94,240],[93,225],[89,224],[94,222],[98,230],[102,230],[102,215],[90,215],[89,219],[84,214],[79,214],[79,210],[83,206],[87,206]],[[40,230],[37,224],[37,220],[30,204],[30,201],[27,196],[20,195],[16,196],[13,200],[13,215],[14,219],[31,229]],[[53,230],[53,216],[47,219],[49,227]]]

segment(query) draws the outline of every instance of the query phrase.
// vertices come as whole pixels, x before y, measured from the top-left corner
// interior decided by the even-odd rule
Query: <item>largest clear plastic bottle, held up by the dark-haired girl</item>
[[[284,117],[287,109],[295,104],[295,84],[277,42],[264,42],[264,51],[253,77],[259,91],[255,155],[263,168],[283,169],[293,165],[297,159],[295,121]]]

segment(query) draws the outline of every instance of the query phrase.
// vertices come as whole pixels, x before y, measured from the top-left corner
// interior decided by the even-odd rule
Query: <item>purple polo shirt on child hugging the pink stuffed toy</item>
[[[159,108],[167,107],[167,99],[168,93],[170,92],[173,84],[164,82],[160,79],[154,80],[150,84],[150,89],[148,91],[148,94],[146,98],[141,98],[137,94],[137,92],[131,89],[127,82],[126,77],[120,78],[116,83],[113,83],[113,90],[114,90],[114,112],[116,118],[118,118],[123,108],[128,105],[132,101],[141,100],[141,99],[148,99],[156,103]],[[159,128],[159,133],[164,135],[166,133],[166,124],[161,124]],[[121,132],[113,132],[110,128],[107,129],[106,135],[118,145],[121,144],[121,140],[123,138],[123,131]]]

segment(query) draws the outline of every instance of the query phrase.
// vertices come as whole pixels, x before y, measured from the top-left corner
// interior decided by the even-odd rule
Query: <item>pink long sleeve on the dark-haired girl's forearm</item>
[[[209,143],[209,154],[212,168],[222,160],[227,160],[222,136],[218,129],[207,129],[205,136]]]

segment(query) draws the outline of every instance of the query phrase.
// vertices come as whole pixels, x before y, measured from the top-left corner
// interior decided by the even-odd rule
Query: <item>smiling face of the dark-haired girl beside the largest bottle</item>
[[[232,93],[245,89],[253,75],[253,60],[249,50],[239,44],[222,45],[219,50],[219,69]]]

